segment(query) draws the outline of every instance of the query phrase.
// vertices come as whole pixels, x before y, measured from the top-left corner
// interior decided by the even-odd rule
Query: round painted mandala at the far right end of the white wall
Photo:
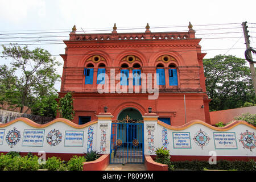
[[[243,148],[250,149],[251,152],[253,151],[252,149],[256,147],[255,134],[249,132],[248,130],[246,130],[244,133],[241,133],[241,138],[239,141],[242,143]]]

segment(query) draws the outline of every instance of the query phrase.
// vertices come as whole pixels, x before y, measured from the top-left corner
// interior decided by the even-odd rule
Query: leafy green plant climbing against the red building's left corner
[[[63,98],[60,98],[58,111],[61,118],[66,118],[72,121],[75,111],[73,109],[73,98],[71,92],[68,92]]]

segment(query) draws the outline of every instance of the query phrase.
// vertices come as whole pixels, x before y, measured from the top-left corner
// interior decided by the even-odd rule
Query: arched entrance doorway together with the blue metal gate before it
[[[120,111],[112,122],[110,163],[144,163],[143,119],[133,107]]]

